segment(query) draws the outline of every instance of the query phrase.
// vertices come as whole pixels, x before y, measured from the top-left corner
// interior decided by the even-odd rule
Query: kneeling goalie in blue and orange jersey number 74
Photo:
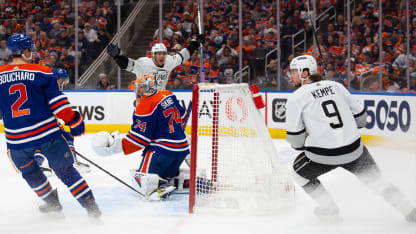
[[[136,94],[140,101],[128,134],[121,138],[100,132],[93,138],[93,149],[102,156],[143,149],[140,167],[132,175],[133,186],[149,200],[160,200],[176,189],[168,180],[178,175],[189,154],[183,129],[186,113],[172,92],[156,91],[151,74],[142,74],[136,80]]]

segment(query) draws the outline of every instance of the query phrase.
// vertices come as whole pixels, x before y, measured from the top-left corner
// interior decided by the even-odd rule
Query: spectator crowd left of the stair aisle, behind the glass
[[[111,3],[114,4],[114,3]],[[115,15],[110,1],[80,1],[78,53],[80,73],[107,46],[114,33]],[[13,33],[26,33],[36,47],[33,62],[52,70],[68,71],[74,83],[75,11],[72,0],[3,0],[0,3],[0,64],[11,61],[6,47]]]

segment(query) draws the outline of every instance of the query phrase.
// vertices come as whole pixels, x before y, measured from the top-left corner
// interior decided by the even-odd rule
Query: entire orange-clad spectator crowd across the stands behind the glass
[[[276,1],[242,1],[242,60],[243,67],[249,66],[250,79],[263,88],[290,89],[287,74],[289,63],[294,56],[309,53],[316,56],[319,69],[326,67],[327,79],[336,80],[349,86],[352,91],[415,92],[416,79],[416,1],[409,0],[410,33],[406,28],[406,1],[382,1],[382,25],[379,24],[378,1],[357,0],[351,11],[351,22],[346,21],[343,0],[280,1],[280,54],[268,59],[266,54],[277,46]],[[171,0],[165,4],[171,7],[164,12],[162,23],[163,43],[169,53],[176,53],[186,47],[198,35],[197,1]],[[308,5],[309,4],[309,5]],[[114,1],[80,1],[78,14],[79,67],[81,73],[105,48],[114,34]],[[335,20],[320,25],[317,44],[321,55],[314,46],[307,51],[293,50],[293,35],[305,30],[308,45],[311,44],[311,22],[308,9],[317,9],[317,16],[329,8],[335,9]],[[238,82],[239,32],[238,1],[204,0],[203,29],[205,44],[203,59],[199,53],[178,66],[168,82],[171,89],[190,89],[201,82],[201,61],[205,82]],[[10,61],[6,40],[12,33],[29,34],[36,46],[34,62],[68,71],[73,83],[75,67],[75,9],[73,0],[3,0],[0,1],[0,64]],[[348,41],[348,26],[351,34]],[[379,27],[382,27],[381,43]],[[155,31],[153,43],[158,42],[159,30]],[[309,33],[309,34],[308,34]],[[407,40],[409,51],[407,53]],[[297,42],[297,41],[296,41]],[[351,44],[350,60],[347,58],[348,43]],[[381,45],[381,50],[380,50]],[[295,51],[293,53],[293,51]],[[381,52],[381,55],[380,55]],[[380,57],[382,64],[380,66]],[[262,64],[259,67],[259,61]],[[281,65],[278,69],[278,64]],[[348,65],[351,68],[348,73]],[[266,69],[265,69],[266,68]],[[278,71],[281,74],[277,74]],[[410,74],[410,90],[407,84]],[[280,77],[280,81],[278,81]],[[380,82],[380,77],[381,81]],[[100,77],[100,80],[104,78]],[[108,79],[108,78],[107,78]],[[280,87],[278,87],[280,85]],[[381,85],[381,87],[380,87]],[[100,89],[111,85],[98,84]]]

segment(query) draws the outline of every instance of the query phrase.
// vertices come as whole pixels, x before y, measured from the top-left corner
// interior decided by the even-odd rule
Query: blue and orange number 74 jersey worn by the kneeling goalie
[[[185,112],[176,96],[168,90],[143,96],[133,114],[131,130],[123,139],[124,153],[145,149],[172,156],[189,154],[183,130]]]

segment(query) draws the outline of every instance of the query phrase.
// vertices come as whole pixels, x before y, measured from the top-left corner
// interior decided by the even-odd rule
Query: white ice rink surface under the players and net
[[[106,170],[130,183],[129,170],[137,168],[139,154],[102,158],[90,147],[92,135],[76,139],[77,151]],[[141,233],[141,234],[416,234],[416,224],[407,223],[377,194],[354,176],[336,169],[321,177],[341,208],[342,223],[329,224],[313,214],[315,202],[296,187],[292,209],[268,216],[216,216],[188,214],[188,196],[172,195],[168,201],[146,202],[129,188],[92,166],[83,174],[92,188],[103,216],[100,221],[88,218],[86,211],[56,178],[49,177],[58,188],[64,217],[48,217],[38,211],[43,202],[17,174],[6,154],[5,138],[0,134],[0,233]],[[279,154],[288,165],[295,153],[284,140],[274,140]],[[368,147],[385,177],[395,183],[416,205],[416,152]],[[82,159],[80,159],[83,161]]]

